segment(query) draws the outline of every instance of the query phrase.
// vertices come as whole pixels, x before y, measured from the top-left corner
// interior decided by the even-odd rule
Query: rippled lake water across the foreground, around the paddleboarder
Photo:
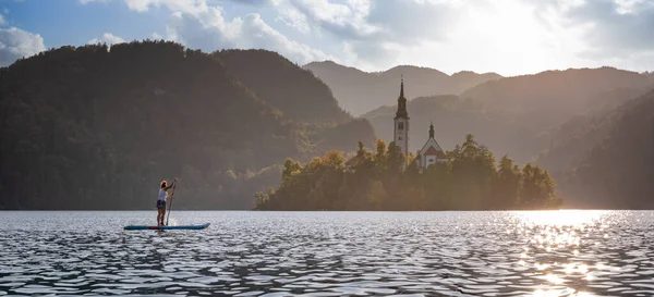
[[[653,211],[0,212],[0,295],[653,296]]]

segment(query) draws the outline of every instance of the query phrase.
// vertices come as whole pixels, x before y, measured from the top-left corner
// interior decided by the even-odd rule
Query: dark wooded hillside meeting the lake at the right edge
[[[577,202],[611,209],[654,208],[654,90],[605,117],[609,133],[569,171],[561,187]]]

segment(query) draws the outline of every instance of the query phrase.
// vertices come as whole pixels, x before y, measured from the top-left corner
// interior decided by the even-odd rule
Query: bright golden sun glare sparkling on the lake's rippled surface
[[[524,236],[525,240],[523,251],[516,257],[516,264],[531,267],[540,284],[532,296],[594,296],[576,288],[579,284],[582,284],[581,287],[592,284],[594,273],[609,269],[600,262],[601,259],[588,257],[590,253],[585,250],[589,245],[601,244],[609,237],[604,233],[609,212],[511,212],[519,225],[518,234]],[[597,242],[597,238],[601,240]]]

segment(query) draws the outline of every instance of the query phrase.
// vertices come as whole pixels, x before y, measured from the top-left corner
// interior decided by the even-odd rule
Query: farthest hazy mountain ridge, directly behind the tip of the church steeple
[[[402,76],[408,98],[457,95],[480,83],[501,77],[495,73],[473,72],[460,72],[450,76],[434,69],[409,65],[368,73],[331,61],[308,63],[304,69],[325,82],[339,104],[354,115],[361,115],[379,106],[396,103]]]

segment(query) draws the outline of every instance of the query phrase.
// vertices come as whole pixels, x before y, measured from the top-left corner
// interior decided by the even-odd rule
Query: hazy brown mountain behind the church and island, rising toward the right
[[[557,171],[571,160],[568,158],[582,153],[554,157],[556,148],[567,143],[565,134],[572,133],[570,126],[585,129],[579,116],[592,119],[606,113],[643,94],[650,82],[646,75],[609,67],[548,71],[482,83],[460,96],[419,97],[408,103],[410,147],[412,151],[422,147],[433,121],[436,139],[444,149],[451,149],[461,135],[471,133],[494,153],[508,153],[518,162],[535,161],[549,151],[552,160],[541,156],[540,164]],[[404,91],[410,92],[410,88],[405,86]],[[371,121],[380,138],[390,141],[396,109],[380,107],[362,117]]]

